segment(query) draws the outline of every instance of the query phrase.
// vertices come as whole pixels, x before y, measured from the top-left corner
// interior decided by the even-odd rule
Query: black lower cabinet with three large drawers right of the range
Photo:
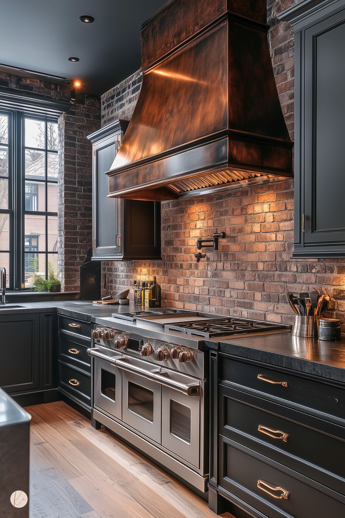
[[[344,516],[345,385],[210,354],[209,507],[236,518]]]

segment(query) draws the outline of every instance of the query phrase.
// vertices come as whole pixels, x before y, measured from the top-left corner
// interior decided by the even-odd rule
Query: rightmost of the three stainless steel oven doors
[[[186,385],[199,381],[179,373],[174,373],[174,378]],[[192,466],[200,467],[200,393],[187,396],[162,386],[161,444]]]

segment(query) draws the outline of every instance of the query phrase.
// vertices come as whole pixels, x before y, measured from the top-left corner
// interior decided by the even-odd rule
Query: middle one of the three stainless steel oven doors
[[[147,371],[147,376],[151,374],[152,368],[157,369],[155,365],[137,358],[128,360],[128,368],[130,367]],[[123,369],[122,420],[139,433],[160,444],[161,385],[147,379],[146,376],[138,376]]]

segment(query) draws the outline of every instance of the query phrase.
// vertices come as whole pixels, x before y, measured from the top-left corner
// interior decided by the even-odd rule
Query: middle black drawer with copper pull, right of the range
[[[345,495],[345,428],[222,385],[218,390],[221,435]]]

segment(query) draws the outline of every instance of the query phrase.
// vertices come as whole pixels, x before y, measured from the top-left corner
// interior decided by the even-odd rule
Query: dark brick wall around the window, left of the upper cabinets
[[[0,72],[5,88],[54,99],[70,98],[70,87]],[[59,118],[58,264],[62,289],[79,291],[79,267],[92,245],[92,150],[86,135],[100,127],[100,99],[77,96]]]

